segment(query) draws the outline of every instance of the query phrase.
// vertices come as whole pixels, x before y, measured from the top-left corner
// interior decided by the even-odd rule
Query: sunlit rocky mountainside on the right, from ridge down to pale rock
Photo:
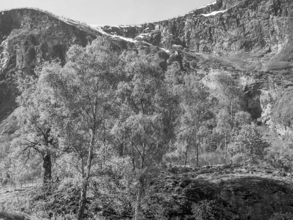
[[[207,75],[211,68],[228,68],[226,72],[241,81],[253,117],[270,124],[280,135],[291,131],[291,0],[217,0],[162,22],[102,28],[111,34],[165,47],[171,51],[172,61],[181,62],[182,56],[188,60],[192,54],[197,69],[203,69]],[[217,64],[206,65],[215,60]]]

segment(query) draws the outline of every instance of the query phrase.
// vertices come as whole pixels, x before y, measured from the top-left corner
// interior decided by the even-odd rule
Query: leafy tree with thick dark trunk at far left
[[[52,68],[60,69],[59,66]],[[52,156],[55,157],[58,151],[56,138],[51,134],[51,121],[46,105],[47,90],[38,84],[37,76],[26,76],[22,79],[18,75],[18,88],[21,95],[17,98],[20,105],[15,115],[18,119],[17,138],[14,139],[14,153],[10,157],[19,158],[25,163],[32,159],[35,154],[42,157],[42,167],[44,168],[43,183],[50,183],[52,177]],[[52,108],[51,108],[52,109]]]

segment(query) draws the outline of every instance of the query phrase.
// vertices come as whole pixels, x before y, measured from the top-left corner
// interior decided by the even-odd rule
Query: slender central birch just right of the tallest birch
[[[128,155],[138,181],[134,219],[141,213],[141,202],[146,187],[146,175],[162,158],[167,116],[167,90],[164,71],[157,57],[143,51],[125,52],[125,81],[118,87],[120,115],[116,135],[125,138]]]

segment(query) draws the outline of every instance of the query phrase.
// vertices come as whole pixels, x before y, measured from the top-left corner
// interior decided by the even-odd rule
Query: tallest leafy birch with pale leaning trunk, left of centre
[[[98,38],[85,48],[73,45],[67,58],[63,67],[56,62],[44,64],[37,72],[36,85],[46,93],[40,104],[46,107],[42,111],[50,119],[49,132],[57,138],[60,150],[78,158],[79,164],[74,166],[82,179],[77,213],[81,220],[93,159],[103,160],[97,153],[105,146],[105,133],[115,112],[119,56],[110,43]],[[102,170],[103,163],[95,167]]]

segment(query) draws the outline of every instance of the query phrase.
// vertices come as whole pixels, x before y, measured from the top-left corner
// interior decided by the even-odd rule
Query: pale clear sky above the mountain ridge
[[[127,25],[177,17],[212,1],[214,0],[0,0],[0,11],[37,7],[87,24]]]

